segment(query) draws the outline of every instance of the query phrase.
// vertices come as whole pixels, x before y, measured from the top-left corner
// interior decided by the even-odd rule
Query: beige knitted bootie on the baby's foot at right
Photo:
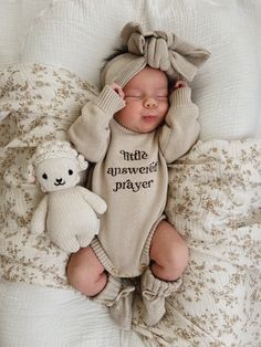
[[[156,278],[148,267],[142,276],[143,319],[148,326],[154,326],[164,316],[165,299],[175,293],[181,284],[181,278],[166,282]]]

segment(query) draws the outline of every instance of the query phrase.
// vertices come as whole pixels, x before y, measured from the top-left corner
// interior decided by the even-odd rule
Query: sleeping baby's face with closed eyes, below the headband
[[[136,133],[150,133],[165,119],[168,112],[168,80],[156,69],[145,67],[123,88],[126,105],[115,119]]]

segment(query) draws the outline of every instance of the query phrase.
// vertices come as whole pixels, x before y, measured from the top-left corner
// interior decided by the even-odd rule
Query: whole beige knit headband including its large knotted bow
[[[203,49],[164,31],[144,32],[138,23],[127,23],[122,31],[128,53],[109,61],[102,73],[102,85],[118,83],[122,87],[146,65],[164,71],[170,78],[191,81],[198,67],[209,59]]]

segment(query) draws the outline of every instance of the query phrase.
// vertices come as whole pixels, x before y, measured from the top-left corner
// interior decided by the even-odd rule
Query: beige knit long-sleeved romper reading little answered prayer
[[[168,175],[167,162],[184,155],[196,141],[198,109],[190,88],[170,95],[165,124],[155,132],[130,132],[113,119],[123,101],[111,87],[86,104],[69,135],[86,159],[96,162],[92,190],[108,210],[101,218],[95,252],[115,276],[133,277],[148,263],[149,240],[164,212]]]

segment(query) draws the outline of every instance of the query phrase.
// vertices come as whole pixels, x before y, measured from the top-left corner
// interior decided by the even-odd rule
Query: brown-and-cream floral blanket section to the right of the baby
[[[169,221],[189,266],[148,346],[261,346],[261,140],[198,143],[169,168]]]

